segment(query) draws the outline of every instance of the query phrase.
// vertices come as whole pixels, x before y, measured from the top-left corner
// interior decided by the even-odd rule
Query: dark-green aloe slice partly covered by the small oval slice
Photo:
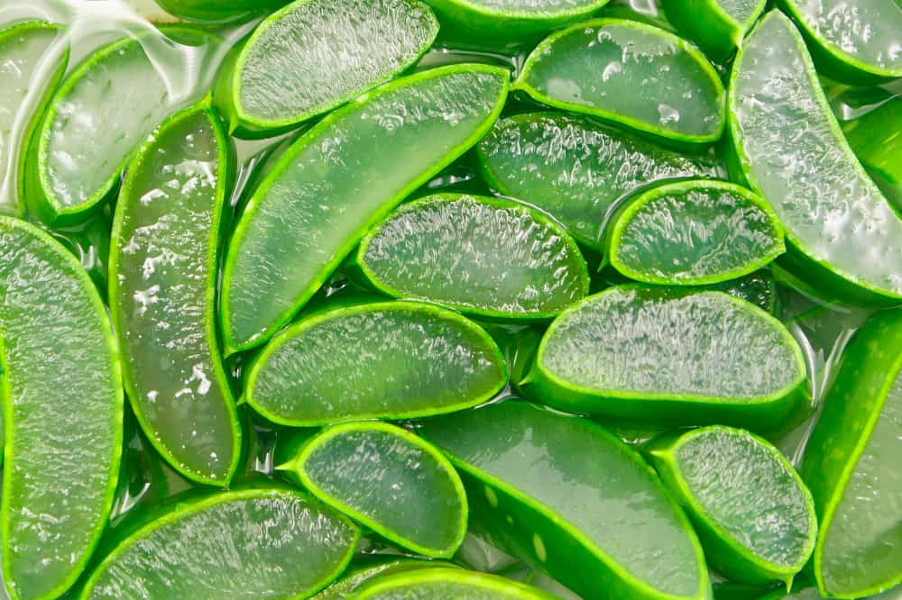
[[[500,119],[478,158],[492,189],[538,206],[593,250],[603,249],[603,223],[622,197],[658,181],[716,175],[710,159],[556,113]]]

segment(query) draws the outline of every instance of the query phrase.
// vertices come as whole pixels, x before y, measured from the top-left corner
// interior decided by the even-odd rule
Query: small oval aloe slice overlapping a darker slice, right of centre
[[[686,181],[626,205],[606,259],[636,281],[699,286],[748,275],[785,250],[783,226],[759,196],[722,181]]]

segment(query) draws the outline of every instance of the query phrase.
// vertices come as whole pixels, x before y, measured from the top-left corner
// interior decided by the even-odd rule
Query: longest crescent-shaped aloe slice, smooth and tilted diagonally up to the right
[[[230,242],[226,346],[246,350],[288,323],[365,232],[482,138],[508,78],[487,65],[422,71],[345,105],[295,142]]]

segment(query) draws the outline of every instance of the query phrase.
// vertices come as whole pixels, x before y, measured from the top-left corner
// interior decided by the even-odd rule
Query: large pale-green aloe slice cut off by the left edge
[[[97,545],[122,455],[119,357],[97,288],[68,250],[0,217],[3,575],[55,598]]]

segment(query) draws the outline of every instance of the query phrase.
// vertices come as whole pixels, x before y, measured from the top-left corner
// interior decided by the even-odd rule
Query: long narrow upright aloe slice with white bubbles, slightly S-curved
[[[134,414],[174,468],[216,486],[227,485],[241,450],[216,341],[229,168],[228,141],[208,109],[163,123],[129,165],[109,265],[110,309]]]

